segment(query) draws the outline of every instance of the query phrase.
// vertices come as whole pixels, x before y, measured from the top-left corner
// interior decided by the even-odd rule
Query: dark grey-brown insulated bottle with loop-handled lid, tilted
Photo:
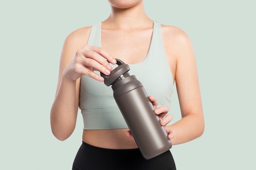
[[[112,85],[115,101],[142,156],[151,159],[169,150],[171,141],[141,82],[129,75],[128,64],[117,59],[117,65],[110,75],[101,76],[106,86]]]

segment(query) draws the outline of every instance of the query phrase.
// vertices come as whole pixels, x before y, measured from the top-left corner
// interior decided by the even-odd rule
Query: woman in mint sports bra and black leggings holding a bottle
[[[143,0],[108,2],[111,13],[105,21],[78,29],[65,40],[51,110],[52,132],[59,140],[70,137],[80,107],[83,144],[73,170],[175,170],[170,151],[149,160],[141,156],[115,104],[112,89],[103,83],[99,72],[109,75],[115,58],[129,64],[129,73],[136,75],[152,95],[149,99],[168,138],[173,145],[182,144],[200,137],[204,131],[191,42],[182,30],[150,20]],[[174,81],[182,119],[167,126],[172,119],[167,113]]]

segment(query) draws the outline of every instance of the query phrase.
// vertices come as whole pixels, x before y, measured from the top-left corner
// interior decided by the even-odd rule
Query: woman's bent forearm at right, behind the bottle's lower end
[[[183,144],[196,139],[204,132],[203,116],[189,114],[177,121],[176,123],[166,126],[166,129],[174,132],[171,139],[173,145]]]

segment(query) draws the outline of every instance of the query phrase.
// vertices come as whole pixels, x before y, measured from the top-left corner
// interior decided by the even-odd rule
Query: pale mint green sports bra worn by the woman
[[[101,22],[92,25],[87,44],[101,47]],[[158,22],[154,21],[150,48],[145,59],[128,65],[130,75],[135,75],[147,94],[157,99],[158,107],[170,107],[173,77],[164,51],[161,25]],[[99,71],[94,72],[100,75]],[[84,130],[128,128],[115,102],[111,86],[86,75],[81,76],[79,108],[83,116]]]

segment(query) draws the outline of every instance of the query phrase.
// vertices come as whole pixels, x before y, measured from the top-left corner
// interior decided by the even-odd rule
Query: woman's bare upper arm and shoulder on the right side
[[[168,32],[167,57],[171,61],[169,65],[175,77],[182,117],[189,114],[202,116],[198,71],[191,41],[176,27],[169,28]]]

